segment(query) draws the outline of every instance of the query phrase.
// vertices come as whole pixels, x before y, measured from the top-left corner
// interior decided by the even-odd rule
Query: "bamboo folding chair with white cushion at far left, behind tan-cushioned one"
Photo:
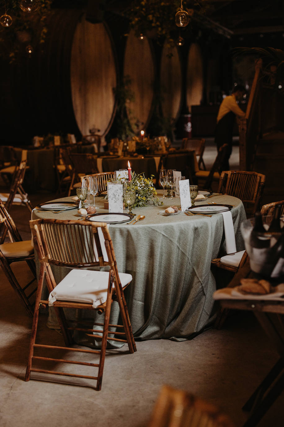
[[[13,182],[11,184],[9,193],[0,193],[0,199],[5,202],[7,209],[13,205],[26,205],[30,212],[32,212],[32,205],[29,200],[28,193],[23,189],[23,179],[26,172],[26,161],[21,161],[18,167]]]

